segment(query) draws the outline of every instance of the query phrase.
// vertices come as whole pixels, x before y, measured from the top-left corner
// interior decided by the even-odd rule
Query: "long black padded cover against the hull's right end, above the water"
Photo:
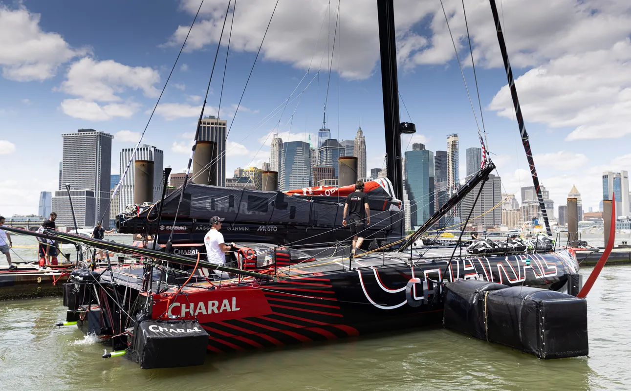
[[[538,358],[586,356],[587,301],[487,281],[445,284],[443,325]]]

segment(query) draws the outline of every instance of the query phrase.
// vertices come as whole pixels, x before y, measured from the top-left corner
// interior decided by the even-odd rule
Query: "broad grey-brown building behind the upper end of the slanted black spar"
[[[478,198],[478,202],[476,202],[474,206],[473,203],[478,196],[481,185],[481,183],[477,184],[473,190],[464,197],[461,204],[461,219],[464,221],[464,219],[469,216],[471,209],[473,209],[471,219],[469,220],[470,223],[483,225],[485,228],[501,225],[502,208],[496,207],[493,209],[493,207],[502,202],[502,179],[493,174],[489,174],[488,180],[484,184],[480,197]]]

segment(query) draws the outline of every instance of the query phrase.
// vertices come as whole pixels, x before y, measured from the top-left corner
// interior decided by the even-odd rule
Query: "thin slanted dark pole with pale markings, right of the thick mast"
[[[502,59],[504,59],[504,68],[506,69],[506,78],[509,82],[510,96],[512,96],[513,105],[515,106],[515,112],[517,113],[517,123],[519,124],[521,143],[524,144],[524,150],[526,151],[526,158],[528,159],[528,165],[530,166],[530,173],[533,177],[534,190],[536,190],[537,192],[537,199],[539,200],[541,215],[543,216],[543,221],[546,224],[546,233],[548,233],[548,236],[551,236],[552,231],[550,230],[550,223],[548,222],[548,213],[546,213],[546,206],[543,203],[543,195],[541,194],[537,170],[536,168],[534,168],[533,151],[530,148],[528,132],[526,132],[526,124],[524,124],[524,118],[521,115],[521,107],[519,106],[519,99],[517,98],[517,88],[515,87],[515,80],[513,79],[512,69],[510,69],[509,55],[506,51],[506,42],[504,42],[504,33],[502,33],[500,17],[497,13],[495,0],[489,1],[491,3],[491,11],[493,11],[493,20],[495,21],[495,28],[497,30],[497,40],[500,44],[500,50],[502,51]]]

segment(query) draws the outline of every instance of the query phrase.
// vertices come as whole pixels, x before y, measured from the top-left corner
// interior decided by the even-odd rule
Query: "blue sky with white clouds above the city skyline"
[[[138,142],[200,1],[0,0],[0,214],[37,213],[40,191],[57,189],[62,133],[114,135],[112,173],[119,172],[118,154]],[[532,181],[488,1],[464,1],[466,25],[462,2],[443,0],[451,35],[439,0],[394,3],[401,120],[417,129],[403,149],[421,142],[445,150],[447,135],[457,133],[463,177],[465,149],[480,146],[479,126],[504,192],[519,200]],[[381,168],[375,1],[280,0],[274,11],[275,4],[232,1],[215,62],[228,3],[203,3],[143,143],[184,170],[212,74],[204,115],[228,120],[227,177],[268,161],[274,132],[283,141],[315,140],[325,103],[332,136],[353,139],[361,125],[367,166]],[[575,185],[584,209],[598,210],[602,172],[631,170],[631,3],[497,6],[540,182],[555,209]]]

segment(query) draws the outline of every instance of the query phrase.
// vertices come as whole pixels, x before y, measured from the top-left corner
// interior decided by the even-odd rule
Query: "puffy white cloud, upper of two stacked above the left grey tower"
[[[84,57],[68,70],[61,90],[86,100],[120,102],[127,88],[142,90],[145,96],[155,97],[160,91],[153,86],[160,74],[150,67],[130,67],[112,60],[95,61]]]

